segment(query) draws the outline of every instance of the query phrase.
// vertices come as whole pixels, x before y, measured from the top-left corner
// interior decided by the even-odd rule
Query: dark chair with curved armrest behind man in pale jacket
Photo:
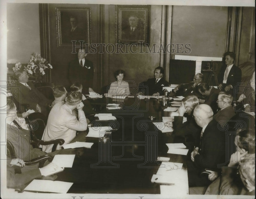
[[[28,115],[28,128],[30,131],[30,137],[31,137],[31,145],[33,147],[39,149],[39,145],[49,145],[54,144],[52,147],[52,152],[56,151],[57,145],[64,144],[63,139],[56,139],[56,140],[50,140],[50,141],[44,141],[41,140],[44,130],[45,130],[45,124],[47,123],[46,117],[42,113],[31,113]]]

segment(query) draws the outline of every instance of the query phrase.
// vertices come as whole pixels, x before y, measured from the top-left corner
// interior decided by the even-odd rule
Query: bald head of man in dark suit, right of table
[[[212,109],[207,104],[197,105],[197,107],[194,109],[193,115],[197,125],[200,127],[204,127],[205,125],[209,124],[209,122],[213,119]]]

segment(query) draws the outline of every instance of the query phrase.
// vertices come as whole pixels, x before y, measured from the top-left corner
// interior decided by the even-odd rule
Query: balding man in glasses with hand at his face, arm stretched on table
[[[178,85],[173,91],[177,92],[178,90],[187,89],[185,93],[183,94],[184,97],[189,95],[195,95],[198,98],[202,98],[202,95],[198,91],[197,87],[202,83],[204,79],[204,75],[202,73],[197,73],[192,82],[186,83],[186,84],[180,84]]]

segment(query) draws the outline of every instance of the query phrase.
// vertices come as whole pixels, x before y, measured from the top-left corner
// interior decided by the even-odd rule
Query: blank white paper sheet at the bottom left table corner
[[[52,193],[67,193],[73,182],[62,182],[52,180],[33,180],[24,190],[41,191]]]

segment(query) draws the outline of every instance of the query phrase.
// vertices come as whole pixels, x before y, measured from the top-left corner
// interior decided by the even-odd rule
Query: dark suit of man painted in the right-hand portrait
[[[127,26],[122,30],[122,41],[145,41],[145,31],[138,26],[131,30],[131,26]]]

